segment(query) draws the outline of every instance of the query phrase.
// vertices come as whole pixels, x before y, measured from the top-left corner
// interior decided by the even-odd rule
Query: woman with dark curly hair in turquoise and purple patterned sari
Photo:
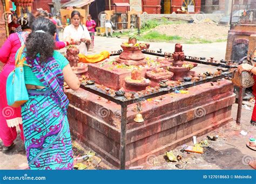
[[[73,153],[64,81],[73,90],[80,82],[68,60],[55,48],[56,26],[38,18],[21,58],[29,101],[22,105],[26,156],[30,169],[72,169]],[[21,48],[23,49],[23,48]]]

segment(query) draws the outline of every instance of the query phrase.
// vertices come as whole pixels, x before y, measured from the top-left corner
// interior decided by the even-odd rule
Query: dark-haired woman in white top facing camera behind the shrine
[[[80,54],[87,55],[86,43],[90,44],[91,36],[84,25],[81,25],[81,15],[79,11],[72,11],[71,24],[66,26],[63,32],[63,40],[70,44],[77,45]]]

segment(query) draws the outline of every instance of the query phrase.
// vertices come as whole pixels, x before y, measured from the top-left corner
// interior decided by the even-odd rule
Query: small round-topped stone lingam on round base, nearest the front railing
[[[132,70],[131,76],[125,78],[125,88],[128,91],[142,91],[150,86],[150,80],[142,76],[142,70]]]

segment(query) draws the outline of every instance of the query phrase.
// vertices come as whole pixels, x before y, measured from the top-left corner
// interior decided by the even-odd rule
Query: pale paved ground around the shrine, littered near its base
[[[90,53],[98,53],[106,49],[113,51],[120,49],[120,44],[125,41],[118,38],[96,37],[95,51]],[[151,43],[151,49],[163,48],[163,51],[173,52],[174,45],[170,43]],[[185,45],[183,47],[186,55],[191,56],[213,56],[215,59],[225,58],[226,43],[215,44],[196,44]],[[206,68],[201,67],[205,70]],[[199,69],[200,70],[200,69]],[[253,104],[251,104],[253,105]],[[236,118],[237,104],[233,105],[232,117]],[[166,162],[163,155],[149,157],[145,163],[144,169],[178,169],[175,165],[180,164],[182,169],[251,169],[248,166],[248,160],[255,160],[255,151],[246,147],[245,143],[250,136],[256,136],[256,127],[250,125],[252,110],[242,109],[241,125],[238,126],[235,122],[226,124],[218,128],[208,135],[218,135],[216,141],[208,140],[208,148],[204,154],[198,153],[181,153],[181,147],[173,150],[174,153],[181,155],[183,159],[179,162]],[[240,131],[248,132],[246,136],[240,135]],[[198,137],[197,140],[205,140],[205,136]],[[26,156],[24,144],[20,138],[15,141],[15,148],[8,154],[0,152],[0,169],[18,169],[26,164]],[[77,142],[75,141],[75,144]],[[192,140],[188,145],[192,145]],[[84,145],[79,145],[84,148],[80,152],[85,153],[89,148]],[[77,148],[75,148],[77,150]],[[97,154],[97,153],[96,153]],[[81,155],[81,154],[80,154]],[[253,158],[254,157],[254,158]],[[98,169],[114,168],[105,161],[100,162]]]

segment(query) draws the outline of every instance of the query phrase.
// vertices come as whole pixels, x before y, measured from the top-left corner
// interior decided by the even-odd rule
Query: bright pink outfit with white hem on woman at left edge
[[[26,34],[28,35],[28,34]],[[0,73],[0,138],[5,146],[10,146],[17,137],[16,127],[21,129],[21,138],[23,137],[21,108],[12,108],[6,100],[6,80],[8,75],[15,68],[15,54],[21,47],[21,41],[18,34],[10,34],[3,46],[0,48],[0,61],[5,63]],[[9,126],[12,128],[9,128]]]

